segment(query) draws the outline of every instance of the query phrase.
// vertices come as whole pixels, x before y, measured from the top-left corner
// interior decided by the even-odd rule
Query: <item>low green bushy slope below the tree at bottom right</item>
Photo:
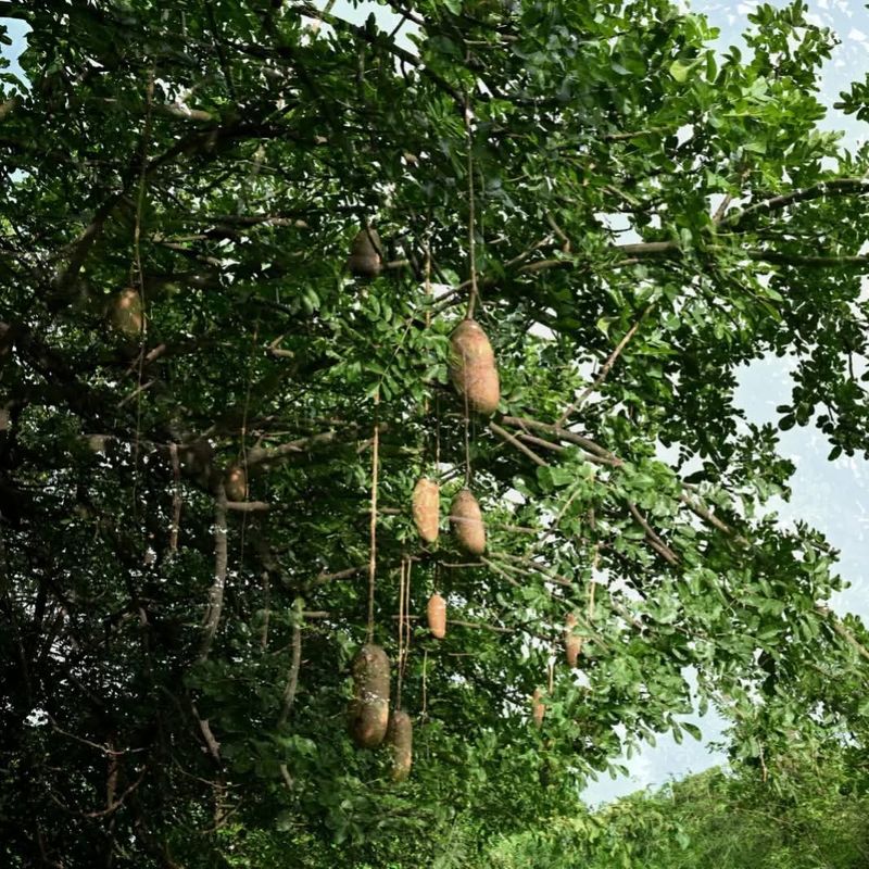
[[[711,769],[507,837],[493,845],[484,865],[858,869],[869,858],[865,777],[855,782],[841,752],[819,760],[792,755],[785,788],[765,782],[756,769]]]

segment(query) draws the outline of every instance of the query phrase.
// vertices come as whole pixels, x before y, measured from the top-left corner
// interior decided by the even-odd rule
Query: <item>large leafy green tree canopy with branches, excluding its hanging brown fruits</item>
[[[834,35],[801,2],[744,56],[667,0],[323,5],[0,2],[30,27],[0,74],[5,865],[245,865],[254,827],[287,865],[429,865],[697,705],[767,769],[860,740],[865,629],[733,400],[788,356],[779,426],[869,442]],[[469,313],[492,415],[451,382]],[[482,555],[448,531],[465,486]],[[401,783],[347,729],[371,640]]]

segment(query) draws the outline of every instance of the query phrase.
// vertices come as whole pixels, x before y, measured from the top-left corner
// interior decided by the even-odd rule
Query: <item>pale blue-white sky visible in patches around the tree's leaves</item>
[[[773,5],[784,5],[772,0]],[[320,7],[325,5],[319,0]],[[716,47],[723,51],[729,46],[742,45],[741,34],[748,24],[747,15],[759,4],[758,0],[693,0],[680,5],[692,12],[705,14],[720,28]],[[808,0],[811,21],[831,27],[841,45],[828,62],[821,101],[829,106],[822,122],[826,129],[844,133],[846,147],[856,148],[869,137],[869,124],[857,122],[834,110],[839,91],[847,83],[862,79],[869,73],[869,10],[854,0]],[[374,11],[381,27],[392,29],[399,17],[373,2],[353,3],[337,0],[332,12],[342,17],[364,21]],[[2,47],[2,54],[13,60],[11,71],[18,73],[14,59],[23,50],[26,27],[20,22],[0,18],[8,24],[11,46]],[[400,35],[401,36],[401,35]],[[411,47],[412,43],[404,43]],[[747,418],[756,424],[774,421],[776,406],[788,403],[791,378],[786,361],[768,358],[743,369],[736,394],[736,404]],[[849,588],[835,595],[832,604],[840,613],[856,613],[869,624],[869,576],[866,552],[869,533],[869,463],[861,458],[841,456],[828,462],[829,444],[814,427],[795,427],[782,432],[780,452],[796,466],[791,480],[792,498],[789,503],[776,505],[782,522],[795,519],[808,521],[821,530],[840,551],[840,574]],[[616,780],[603,778],[583,792],[591,804],[607,802],[640,788],[657,786],[690,772],[698,772],[722,763],[723,755],[709,743],[721,741],[723,722],[714,714],[694,717],[703,731],[696,742],[687,736],[679,745],[671,736],[663,735],[655,747],[647,746],[630,760],[622,758],[629,774]]]

